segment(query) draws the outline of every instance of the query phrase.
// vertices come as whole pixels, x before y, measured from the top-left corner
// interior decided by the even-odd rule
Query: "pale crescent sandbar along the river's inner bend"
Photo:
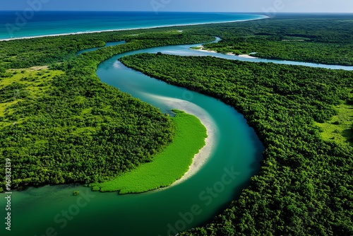
[[[149,94],[146,94],[149,95]],[[174,107],[173,109],[177,110],[182,110],[188,114],[192,114],[193,116],[197,117],[203,126],[206,128],[206,133],[207,137],[205,138],[205,146],[196,153],[193,157],[193,162],[191,165],[189,165],[189,170],[184,173],[182,177],[177,179],[175,182],[173,182],[171,185],[168,187],[163,187],[157,190],[162,190],[166,189],[169,187],[174,187],[177,184],[181,184],[182,182],[186,181],[193,175],[196,175],[196,173],[201,170],[201,167],[205,165],[208,160],[210,159],[210,156],[213,153],[213,150],[215,148],[215,143],[216,143],[216,136],[217,136],[217,127],[215,126],[215,122],[213,121],[212,117],[210,117],[210,114],[203,110],[203,108],[198,107],[197,105],[188,102],[186,100],[180,100],[177,98],[167,98],[163,96],[158,96],[158,95],[149,95],[153,98],[156,98],[158,100],[162,100],[164,103],[167,103],[169,107]]]

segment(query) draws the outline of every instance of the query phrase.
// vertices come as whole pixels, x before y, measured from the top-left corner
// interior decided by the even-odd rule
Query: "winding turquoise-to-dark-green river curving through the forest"
[[[353,70],[353,66],[246,59],[189,49],[196,46],[199,45],[156,47],[119,54],[100,64],[97,75],[102,82],[159,107],[162,112],[178,108],[210,122],[213,141],[209,143],[211,152],[202,168],[179,184],[144,194],[120,196],[92,192],[80,185],[46,186],[14,192],[11,235],[175,234],[211,220],[258,172],[264,148],[241,114],[214,98],[128,69],[117,61],[119,57],[162,52]],[[74,190],[79,190],[80,195],[72,196]],[[5,206],[4,194],[0,196],[0,204]],[[3,230],[4,225],[0,232]]]

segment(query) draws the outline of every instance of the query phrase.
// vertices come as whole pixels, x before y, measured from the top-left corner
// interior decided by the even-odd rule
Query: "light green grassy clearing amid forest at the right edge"
[[[316,122],[316,125],[323,130],[321,135],[324,140],[349,143],[349,145],[353,146],[351,131],[353,125],[353,105],[342,101],[342,103],[335,108],[338,113],[337,115],[328,122],[322,124]]]

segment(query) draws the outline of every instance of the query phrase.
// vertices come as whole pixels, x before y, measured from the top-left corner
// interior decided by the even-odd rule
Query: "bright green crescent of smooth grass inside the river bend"
[[[90,184],[94,190],[119,191],[119,194],[140,193],[167,187],[189,170],[193,157],[205,146],[206,129],[191,114],[173,110],[176,134],[172,143],[152,162],[140,165],[109,182]]]

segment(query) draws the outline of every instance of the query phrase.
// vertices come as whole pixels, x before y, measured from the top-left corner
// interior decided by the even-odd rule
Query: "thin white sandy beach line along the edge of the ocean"
[[[265,18],[270,18],[265,15],[253,15],[253,16],[262,16],[262,18],[250,19],[250,20],[263,20]],[[169,27],[177,27],[177,26],[189,26],[189,25],[209,25],[209,24],[219,24],[219,23],[235,23],[235,22],[244,22],[250,20],[229,20],[229,21],[217,21],[217,22],[209,22],[209,23],[191,23],[191,24],[180,24],[180,25],[160,25],[160,26],[151,26],[151,27],[143,27],[143,28],[127,28],[127,29],[116,29],[116,30],[96,30],[96,31],[88,31],[88,32],[72,32],[72,33],[61,33],[54,35],[38,35],[38,36],[28,36],[28,37],[13,37],[0,39],[0,41],[11,41],[11,40],[28,40],[38,37],[58,37],[58,36],[66,36],[66,35],[83,35],[83,34],[92,34],[92,33],[106,33],[106,32],[114,32],[114,31],[128,31],[128,30],[148,30],[148,29],[156,29],[156,28],[169,28]]]

